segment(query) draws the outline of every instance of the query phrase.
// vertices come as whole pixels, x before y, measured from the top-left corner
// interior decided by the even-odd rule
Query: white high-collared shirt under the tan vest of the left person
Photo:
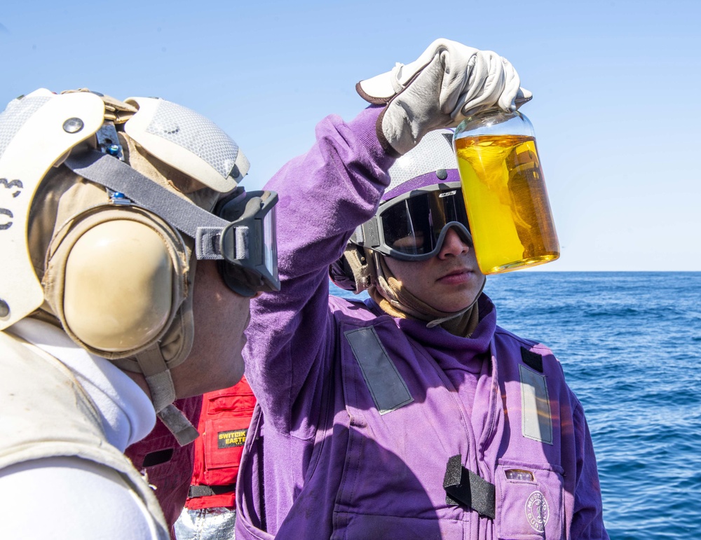
[[[119,368],[89,354],[59,328],[24,319],[8,329],[63,362],[102,417],[119,450],[149,434],[154,406]],[[156,525],[123,478],[78,457],[52,457],[0,471],[0,536],[8,539],[157,539]]]

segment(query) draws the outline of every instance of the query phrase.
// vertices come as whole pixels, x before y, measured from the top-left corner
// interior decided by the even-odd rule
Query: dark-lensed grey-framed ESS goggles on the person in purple
[[[438,254],[451,227],[472,245],[460,182],[409,191],[380,205],[351,242],[402,261],[424,261]]]

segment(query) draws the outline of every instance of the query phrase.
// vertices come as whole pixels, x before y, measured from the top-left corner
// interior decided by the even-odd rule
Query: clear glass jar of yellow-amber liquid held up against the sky
[[[456,127],[453,148],[482,273],[557,259],[559,242],[530,120],[519,111],[482,111]]]

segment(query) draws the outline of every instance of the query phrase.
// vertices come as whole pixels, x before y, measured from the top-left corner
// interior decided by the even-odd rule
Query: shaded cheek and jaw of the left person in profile
[[[187,359],[171,370],[178,398],[228,388],[243,376],[250,298],[231,291],[216,261],[198,261],[193,290],[195,335]]]

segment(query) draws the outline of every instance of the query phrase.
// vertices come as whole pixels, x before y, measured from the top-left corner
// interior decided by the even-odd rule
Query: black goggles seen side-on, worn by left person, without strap
[[[218,235],[219,273],[241,296],[279,291],[274,191],[236,188],[220,201],[215,214],[231,223]]]

